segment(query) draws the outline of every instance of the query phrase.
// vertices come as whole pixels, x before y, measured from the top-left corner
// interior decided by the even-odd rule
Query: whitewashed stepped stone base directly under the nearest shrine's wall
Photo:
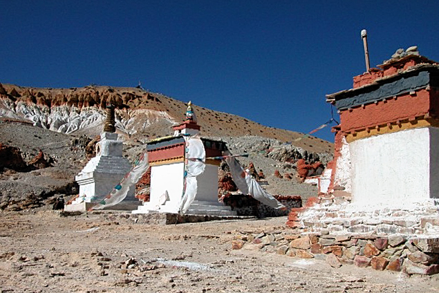
[[[291,209],[287,225],[306,231],[386,236],[439,236],[436,200],[400,202],[400,206],[354,205],[345,198],[308,198],[306,206]]]

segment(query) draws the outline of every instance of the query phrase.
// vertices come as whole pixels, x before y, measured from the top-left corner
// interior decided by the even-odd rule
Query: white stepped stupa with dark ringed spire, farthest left
[[[66,205],[65,211],[87,211],[96,202],[107,196],[115,185],[131,170],[131,164],[122,156],[122,141],[115,133],[113,106],[106,108],[106,120],[101,140],[96,144],[96,156],[92,158],[82,171],[75,177],[80,185],[80,194],[71,205]],[[133,185],[127,197],[111,209],[133,210],[141,204],[135,198],[136,186]]]

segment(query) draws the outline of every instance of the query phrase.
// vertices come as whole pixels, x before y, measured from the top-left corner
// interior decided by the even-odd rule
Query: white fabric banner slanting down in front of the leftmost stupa
[[[92,209],[104,209],[104,207],[112,207],[127,197],[129,189],[136,185],[142,178],[143,174],[149,168],[148,153],[145,151],[142,157],[134,163],[133,169],[125,175],[125,177],[116,185],[108,196],[94,205]]]

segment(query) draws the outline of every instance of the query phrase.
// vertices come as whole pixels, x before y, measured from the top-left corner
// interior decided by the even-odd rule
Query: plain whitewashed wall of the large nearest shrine
[[[439,198],[438,147],[436,127],[351,142],[353,203],[392,206]]]

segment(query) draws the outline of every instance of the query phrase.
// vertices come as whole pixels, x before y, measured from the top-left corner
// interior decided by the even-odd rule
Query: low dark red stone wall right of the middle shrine
[[[262,202],[255,200],[251,196],[243,194],[227,194],[223,197],[224,205],[236,211],[238,216],[256,216],[258,218],[286,216],[293,208],[302,206],[300,196],[274,196],[282,205],[286,206],[285,210],[273,209],[264,205]]]

